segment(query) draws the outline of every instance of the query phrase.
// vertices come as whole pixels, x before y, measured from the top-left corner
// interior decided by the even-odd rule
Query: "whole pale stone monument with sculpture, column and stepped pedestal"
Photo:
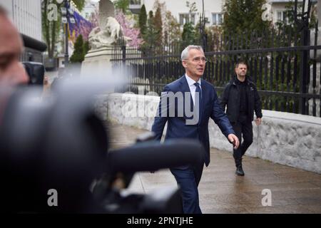
[[[88,36],[91,50],[81,65],[81,76],[111,73],[113,47],[121,38],[121,25],[114,18],[114,11],[110,0],[99,1],[99,25]]]

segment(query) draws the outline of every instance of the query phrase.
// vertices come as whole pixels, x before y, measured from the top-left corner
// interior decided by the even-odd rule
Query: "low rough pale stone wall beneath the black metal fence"
[[[112,93],[101,95],[96,108],[105,119],[108,113],[113,122],[151,130],[158,102],[156,95]],[[214,121],[209,131],[211,147],[232,152]],[[253,122],[253,135],[246,155],[321,173],[321,118],[263,110],[263,123]]]

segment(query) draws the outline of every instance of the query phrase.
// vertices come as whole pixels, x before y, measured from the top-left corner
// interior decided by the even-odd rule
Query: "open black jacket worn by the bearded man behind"
[[[226,114],[228,115],[228,119],[231,123],[235,123],[238,120],[238,115],[240,113],[240,90],[238,89],[235,81],[236,76],[226,84],[222,95],[220,95],[220,105],[223,110],[225,110],[225,106],[228,105]],[[262,118],[262,104],[255,83],[253,83],[248,76],[246,76],[246,81],[248,115],[250,120],[253,121],[254,111],[257,118]]]

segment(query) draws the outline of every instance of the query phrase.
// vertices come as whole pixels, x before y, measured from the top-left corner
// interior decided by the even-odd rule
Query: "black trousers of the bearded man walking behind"
[[[232,126],[236,136],[238,136],[238,140],[240,140],[238,149],[233,149],[235,166],[238,167],[239,165],[242,165],[242,156],[253,142],[253,127],[252,121],[250,121],[246,115],[241,115],[236,123],[232,123]]]

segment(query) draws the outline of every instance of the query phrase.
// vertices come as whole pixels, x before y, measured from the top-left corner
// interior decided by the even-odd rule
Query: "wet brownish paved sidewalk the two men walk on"
[[[111,125],[111,147],[133,145],[146,130]],[[235,175],[230,152],[210,150],[198,187],[203,213],[321,213],[321,175],[259,158],[243,158],[244,177]],[[139,172],[128,192],[150,192],[176,186],[169,170]],[[263,190],[271,192],[271,206],[263,206]]]

